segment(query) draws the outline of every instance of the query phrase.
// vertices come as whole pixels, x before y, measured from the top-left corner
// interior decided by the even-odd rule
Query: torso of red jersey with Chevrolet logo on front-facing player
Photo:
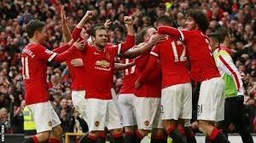
[[[87,46],[84,54],[85,98],[111,100],[113,88],[114,57],[119,46],[107,46],[103,51]]]

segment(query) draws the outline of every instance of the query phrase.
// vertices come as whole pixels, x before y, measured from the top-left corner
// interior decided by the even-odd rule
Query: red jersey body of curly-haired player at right
[[[220,77],[212,57],[208,37],[202,31],[180,31],[181,40],[186,43],[191,63],[190,76],[196,82]]]

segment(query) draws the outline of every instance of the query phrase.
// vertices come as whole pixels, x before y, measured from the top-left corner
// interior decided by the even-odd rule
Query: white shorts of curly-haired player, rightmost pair
[[[224,120],[224,101],[224,81],[221,77],[203,81],[197,106],[197,120]]]

